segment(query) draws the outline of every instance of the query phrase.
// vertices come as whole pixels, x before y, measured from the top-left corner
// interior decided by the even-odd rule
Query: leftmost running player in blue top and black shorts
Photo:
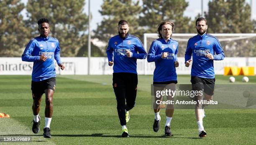
[[[38,20],[38,31],[40,36],[32,38],[23,52],[22,60],[33,62],[31,90],[33,97],[33,133],[39,132],[40,104],[42,95],[46,96],[44,138],[51,138],[50,123],[53,113],[52,99],[56,85],[56,72],[54,59],[61,70],[65,66],[61,63],[59,41],[50,37],[49,20],[42,18]]]

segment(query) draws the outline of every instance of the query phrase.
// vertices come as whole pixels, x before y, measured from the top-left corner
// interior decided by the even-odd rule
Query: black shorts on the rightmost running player
[[[207,95],[213,95],[215,78],[202,78],[191,76],[193,90],[203,90]]]

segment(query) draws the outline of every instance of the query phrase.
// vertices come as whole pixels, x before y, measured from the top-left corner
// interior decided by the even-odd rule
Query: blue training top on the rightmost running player
[[[202,78],[215,77],[213,60],[205,57],[206,51],[214,56],[213,60],[223,60],[225,57],[219,40],[210,34],[205,33],[202,36],[197,34],[188,40],[185,62],[190,60],[193,54],[191,76]]]

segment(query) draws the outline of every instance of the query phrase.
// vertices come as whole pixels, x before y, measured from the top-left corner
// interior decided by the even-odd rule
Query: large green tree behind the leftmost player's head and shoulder
[[[40,18],[48,18],[50,35],[59,40],[61,56],[76,56],[86,43],[88,18],[83,13],[84,4],[84,0],[28,0],[27,25],[35,36],[38,34],[37,21]]]

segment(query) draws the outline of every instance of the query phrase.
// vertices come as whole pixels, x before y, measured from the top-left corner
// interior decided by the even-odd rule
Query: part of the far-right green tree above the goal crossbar
[[[251,7],[245,0],[212,0],[205,13],[209,33],[253,33]]]

